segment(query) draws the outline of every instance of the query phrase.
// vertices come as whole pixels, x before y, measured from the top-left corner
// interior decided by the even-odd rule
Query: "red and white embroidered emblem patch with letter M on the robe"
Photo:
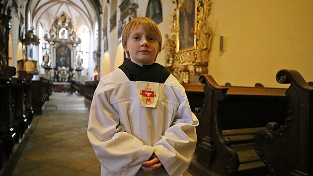
[[[140,105],[155,108],[158,100],[158,83],[136,82],[136,84]]]

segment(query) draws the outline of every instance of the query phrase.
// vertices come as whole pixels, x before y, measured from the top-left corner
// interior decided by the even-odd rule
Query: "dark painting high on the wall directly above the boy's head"
[[[162,4],[160,0],[149,0],[146,16],[157,24],[162,22]]]

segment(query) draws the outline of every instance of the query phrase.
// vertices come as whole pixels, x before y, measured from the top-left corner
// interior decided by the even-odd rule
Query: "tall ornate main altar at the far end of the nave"
[[[83,70],[78,37],[73,19],[65,12],[57,16],[49,32],[44,35],[43,65],[45,75],[52,82],[78,81]]]

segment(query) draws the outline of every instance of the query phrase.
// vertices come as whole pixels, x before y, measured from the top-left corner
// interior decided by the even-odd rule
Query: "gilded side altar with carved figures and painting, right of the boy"
[[[171,34],[165,34],[165,66],[181,82],[194,82],[208,73],[213,31],[209,25],[211,0],[172,0]],[[197,82],[197,80],[196,80]]]

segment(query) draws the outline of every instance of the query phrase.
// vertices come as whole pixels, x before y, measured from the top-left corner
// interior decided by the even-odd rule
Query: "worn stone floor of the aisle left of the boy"
[[[87,139],[84,97],[53,92],[11,176],[99,176],[100,163]],[[192,176],[188,174],[188,176]]]

